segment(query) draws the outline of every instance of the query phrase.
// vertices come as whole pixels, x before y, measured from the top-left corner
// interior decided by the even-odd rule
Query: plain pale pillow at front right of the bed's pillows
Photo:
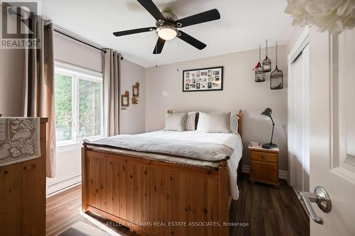
[[[231,113],[204,113],[205,133],[231,133]]]

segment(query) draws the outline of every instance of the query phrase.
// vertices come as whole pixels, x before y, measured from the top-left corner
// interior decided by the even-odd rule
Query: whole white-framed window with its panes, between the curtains
[[[57,143],[102,137],[102,74],[60,62],[55,65]]]

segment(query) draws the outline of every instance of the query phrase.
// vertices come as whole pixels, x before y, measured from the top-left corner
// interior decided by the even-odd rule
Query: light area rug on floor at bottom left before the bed
[[[110,236],[107,232],[99,230],[97,227],[77,222],[61,232],[58,236]]]

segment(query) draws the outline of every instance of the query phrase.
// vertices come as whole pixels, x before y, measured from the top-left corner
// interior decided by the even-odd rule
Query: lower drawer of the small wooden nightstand
[[[271,162],[251,161],[250,176],[252,179],[278,183],[278,166]]]

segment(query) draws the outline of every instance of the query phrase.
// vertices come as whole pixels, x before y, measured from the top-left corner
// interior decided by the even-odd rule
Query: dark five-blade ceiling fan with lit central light
[[[209,11],[204,11],[192,16],[187,16],[182,19],[178,19],[177,16],[171,11],[171,9],[163,9],[159,11],[158,7],[155,6],[151,0],[137,0],[151,15],[155,18],[156,27],[146,27],[146,28],[136,28],[133,30],[124,30],[114,32],[115,36],[131,35],[134,33],[143,33],[155,30],[158,34],[158,42],[156,43],[153,54],[160,54],[163,50],[166,40],[172,40],[175,37],[180,38],[180,40],[196,47],[199,50],[204,49],[207,45],[202,43],[200,40],[193,38],[187,33],[182,32],[178,28],[192,26],[198,23],[204,23],[207,21],[214,21],[221,18],[217,9],[212,9]]]

